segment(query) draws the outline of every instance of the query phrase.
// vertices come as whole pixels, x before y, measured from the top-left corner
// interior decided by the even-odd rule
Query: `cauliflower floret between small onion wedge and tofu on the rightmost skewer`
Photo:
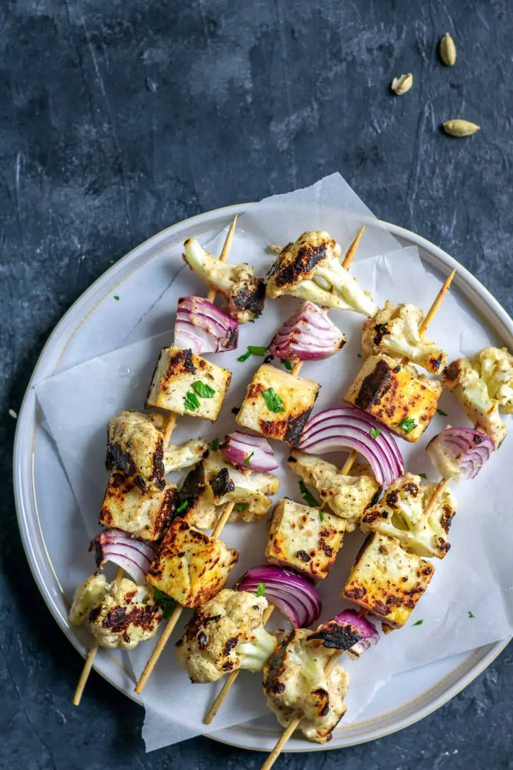
[[[384,497],[361,518],[362,532],[395,537],[409,554],[443,559],[451,544],[447,536],[456,500],[444,490],[428,517],[425,508],[437,484],[422,484],[421,477],[405,474],[388,487]]]

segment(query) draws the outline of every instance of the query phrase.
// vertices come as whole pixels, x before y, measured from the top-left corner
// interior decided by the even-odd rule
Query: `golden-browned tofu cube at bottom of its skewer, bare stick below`
[[[225,588],[237,560],[235,548],[176,517],[146,580],[183,607],[198,607]]]

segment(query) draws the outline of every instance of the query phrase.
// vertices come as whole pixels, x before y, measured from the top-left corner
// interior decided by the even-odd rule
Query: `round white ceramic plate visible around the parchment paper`
[[[55,527],[55,504],[73,504],[62,466],[48,435],[41,425],[33,386],[39,380],[68,369],[82,360],[112,350],[122,343],[120,329],[135,325],[144,307],[167,288],[172,276],[167,273],[166,253],[174,244],[189,236],[214,235],[225,227],[245,205],[230,206],[178,223],[152,237],[121,259],[99,278],[72,306],[56,326],[39,357],[18,417],[15,439],[14,480],[18,522],[28,563],[39,590],[62,631],[78,651],[85,655],[88,634],[70,628],[62,586],[52,567],[52,548],[64,547],[54,542],[45,544],[48,527]],[[486,323],[507,346],[513,341],[513,323],[508,313],[465,268],[437,246],[420,236],[394,225],[385,225],[404,245],[418,246],[421,258],[446,275],[453,267],[458,274],[453,290],[461,292]],[[155,280],[158,276],[159,280]],[[141,313],[134,303],[116,303],[128,286],[137,286],[141,297]],[[128,294],[128,292],[127,292]],[[133,296],[133,292],[131,294]],[[53,539],[52,539],[53,540]],[[321,751],[381,738],[383,735],[411,725],[435,711],[469,684],[505,648],[498,642],[436,661],[430,665],[396,675],[378,691],[371,705],[357,721],[338,728],[326,745],[312,745],[299,738],[288,742],[287,751]],[[128,670],[108,651],[96,656],[95,668],[130,698],[137,699]],[[270,749],[278,738],[278,725],[271,716],[248,725],[218,731],[212,738],[242,748]]]

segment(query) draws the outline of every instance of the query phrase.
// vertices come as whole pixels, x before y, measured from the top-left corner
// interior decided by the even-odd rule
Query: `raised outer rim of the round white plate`
[[[131,249],[125,256],[122,256],[118,261],[107,269],[105,273],[102,273],[101,276],[98,276],[98,278],[91,284],[91,286],[88,286],[88,288],[78,297],[77,300],[68,308],[68,310],[64,313],[62,318],[58,321],[55,328],[52,330],[52,332],[49,334],[48,339],[45,341],[44,346],[42,347],[41,353],[38,356],[38,360],[35,363],[34,370],[32,371],[32,375],[30,377],[30,380],[28,382],[27,389],[25,391],[25,395],[22,400],[21,407],[18,410],[18,420],[16,425],[16,431],[15,431],[15,442],[14,442],[14,451],[13,451],[13,483],[14,483],[14,491],[15,491],[15,508],[16,508],[16,516],[18,520],[18,527],[20,530],[20,534],[22,537],[22,544],[25,551],[25,556],[27,557],[28,565],[30,567],[30,570],[32,572],[32,575],[35,579],[35,582],[38,586],[39,592],[42,594],[42,597],[45,601],[45,604],[47,604],[47,607],[49,611],[51,612],[52,616],[54,617],[55,621],[57,622],[58,626],[62,629],[63,633],[65,633],[66,638],[68,641],[71,641],[75,649],[84,657],[84,651],[81,648],[80,641],[77,638],[72,638],[70,635],[68,635],[67,628],[63,626],[63,624],[60,621],[60,613],[57,611],[57,608],[52,602],[52,597],[49,595],[48,587],[45,583],[45,581],[42,578],[42,575],[39,574],[39,571],[37,570],[37,564],[35,560],[35,553],[34,549],[32,547],[32,541],[30,537],[30,531],[29,527],[26,526],[27,522],[25,520],[25,508],[23,505],[22,500],[22,462],[21,462],[21,453],[22,453],[22,434],[24,433],[24,430],[26,430],[25,423],[30,423],[32,420],[32,447],[31,447],[31,456],[33,456],[33,450],[34,450],[34,440],[35,440],[35,432],[37,430],[37,421],[38,421],[38,414],[40,412],[40,407],[38,407],[38,404],[34,404],[34,409],[31,411],[29,409],[29,401],[32,399],[35,402],[35,394],[32,391],[33,384],[35,381],[35,378],[38,374],[38,371],[42,369],[46,363],[46,359],[48,357],[48,354],[52,348],[52,344],[55,344],[55,340],[58,339],[59,333],[62,333],[62,331],[65,331],[65,327],[68,325],[69,320],[72,319],[72,316],[76,315],[78,311],[81,310],[81,306],[85,303],[90,303],[92,299],[92,295],[95,293],[98,293],[98,289],[100,289],[102,286],[105,286],[109,283],[109,278],[115,278],[115,276],[118,273],[122,273],[126,271],[126,267],[134,262],[134,260],[137,258],[137,254],[140,250],[145,251],[148,250],[148,248],[152,248],[152,243],[158,243],[159,240],[165,239],[167,236],[172,234],[172,231],[174,229],[183,229],[186,225],[191,225],[196,220],[198,220],[198,226],[204,226],[205,224],[208,225],[208,222],[211,219],[215,219],[216,216],[219,215],[228,215],[228,213],[232,212],[234,214],[241,214],[245,211],[245,209],[248,209],[249,206],[254,205],[253,203],[236,203],[232,206],[222,206],[218,209],[211,209],[207,212],[203,212],[200,214],[196,214],[195,216],[188,217],[187,219],[182,219],[178,223],[174,223],[171,226],[168,226],[165,229],[160,230],[158,233],[155,233],[150,238],[146,239],[142,243],[138,244],[138,246],[135,246],[134,249]],[[430,257],[428,259],[428,263],[431,263],[434,265],[437,269],[440,269],[442,273],[448,272],[448,269],[452,269],[453,267],[456,267],[458,269],[457,273],[457,283],[466,283],[467,287],[471,290],[471,293],[474,294],[475,299],[480,300],[480,302],[489,308],[493,310],[496,316],[501,320],[501,323],[505,327],[505,330],[508,331],[511,335],[513,335],[513,322],[511,321],[510,316],[508,316],[508,313],[505,311],[505,309],[501,306],[500,303],[498,303],[498,300],[495,299],[494,296],[491,295],[491,293],[486,289],[485,286],[481,284],[481,282],[473,276],[468,269],[466,269],[464,266],[462,266],[458,261],[450,256],[448,253],[446,253],[443,249],[441,249],[438,246],[435,246],[434,243],[431,243],[428,239],[424,238],[423,236],[418,235],[418,233],[413,233],[411,230],[405,229],[401,226],[394,225],[388,222],[385,222],[383,220],[380,221],[381,225],[383,225],[386,229],[388,229],[388,232],[390,232],[392,235],[407,239],[410,243],[413,245],[418,246],[421,249],[424,249],[425,253],[427,253]],[[153,255],[155,256],[155,255]],[[152,257],[148,257],[148,259],[151,259]],[[467,294],[467,292],[465,292]],[[475,304],[475,303],[474,303]],[[82,315],[82,320],[85,318],[86,313]],[[77,326],[75,326],[75,330],[78,328],[78,326],[82,323],[82,321],[79,321]],[[75,330],[73,330],[72,333],[70,333],[65,340],[65,343],[61,347],[61,353],[64,353],[66,347],[68,346],[69,341],[72,339],[72,336],[75,333]],[[32,477],[32,485],[33,485],[33,477]],[[41,531],[41,538],[42,543],[45,544],[44,536]],[[52,564],[48,557],[48,563]],[[410,725],[415,724],[415,722],[420,721],[422,718],[425,718],[425,716],[428,716],[429,714],[433,713],[433,711],[436,711],[438,708],[440,708],[442,705],[444,705],[446,702],[451,700],[451,698],[455,697],[455,695],[458,694],[461,690],[463,690],[465,687],[467,687],[471,681],[473,681],[478,675],[482,673],[482,671],[485,671],[485,668],[488,668],[488,665],[491,665],[491,663],[495,660],[495,658],[498,657],[498,654],[501,653],[502,650],[505,649],[510,639],[506,639],[503,641],[497,641],[495,643],[491,643],[489,645],[485,645],[486,648],[488,648],[488,651],[483,654],[483,656],[480,658],[479,661],[476,661],[474,665],[471,665],[471,667],[468,669],[465,675],[462,675],[461,678],[457,678],[456,681],[454,681],[451,685],[448,686],[444,691],[441,692],[438,697],[435,697],[432,701],[430,701],[428,704],[426,704],[423,708],[420,708],[418,711],[416,711],[413,714],[405,715],[404,718],[399,719],[397,724],[392,726],[391,728],[387,728],[386,725],[383,726],[381,730],[371,730],[368,737],[355,737],[354,739],[349,739],[347,742],[342,741],[338,742],[337,745],[328,744],[328,745],[308,745],[308,748],[305,748],[304,745],[301,745],[298,748],[290,748],[287,747],[285,751],[287,752],[308,752],[308,751],[326,751],[326,750],[333,750],[335,748],[345,748],[347,746],[351,745],[358,745],[360,743],[369,742],[372,740],[375,740],[377,738],[385,737],[386,735],[391,735],[392,733],[399,731],[401,729],[404,729]],[[472,654],[475,654],[479,650],[484,650],[485,648],[475,648],[475,650],[471,651],[471,654],[469,655],[469,658],[472,657]],[[465,665],[468,661],[468,658],[462,662],[461,666]],[[109,684],[114,685],[115,688],[117,688],[119,691],[123,693],[123,695],[128,695],[129,698],[132,698],[138,703],[142,703],[142,700],[135,696],[135,694],[132,694],[132,692],[126,691],[126,689],[119,684],[118,682],[112,681],[112,678],[110,678],[106,672],[101,671],[97,666],[94,667],[95,671],[97,671],[98,674],[100,674],[103,678],[105,678],[106,681],[109,682]],[[441,680],[441,682],[438,682],[437,685],[435,685],[435,688],[438,685],[441,685],[446,679],[451,678],[452,675],[455,674],[456,671],[458,671],[458,668],[456,667],[454,671],[451,672],[451,674],[448,675],[448,677]],[[425,697],[428,695],[429,691],[431,689],[435,688],[428,688],[424,693],[422,693],[419,698]],[[414,701],[415,702],[415,701]],[[401,706],[401,708],[408,707],[408,703]],[[391,712],[390,715],[392,716],[393,712]],[[380,717],[380,718],[385,718]],[[376,718],[378,721],[379,718]],[[220,730],[217,734],[210,733],[206,735],[205,737],[212,738],[212,740],[215,740],[216,742],[221,742],[226,745],[235,746],[236,748],[249,748],[255,751],[268,751],[267,746],[254,746],[254,745],[244,745],[241,742],[237,742],[235,740],[229,740],[228,737],[225,737],[225,733],[229,733],[230,730],[233,730],[235,728],[243,728],[243,725],[233,725],[232,727],[223,728]]]

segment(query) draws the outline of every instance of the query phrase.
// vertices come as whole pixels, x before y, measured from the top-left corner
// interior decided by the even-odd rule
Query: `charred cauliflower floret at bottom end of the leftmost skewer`
[[[131,650],[155,636],[162,616],[150,586],[92,575],[75,591],[69,620],[78,625],[87,618],[102,647]]]

